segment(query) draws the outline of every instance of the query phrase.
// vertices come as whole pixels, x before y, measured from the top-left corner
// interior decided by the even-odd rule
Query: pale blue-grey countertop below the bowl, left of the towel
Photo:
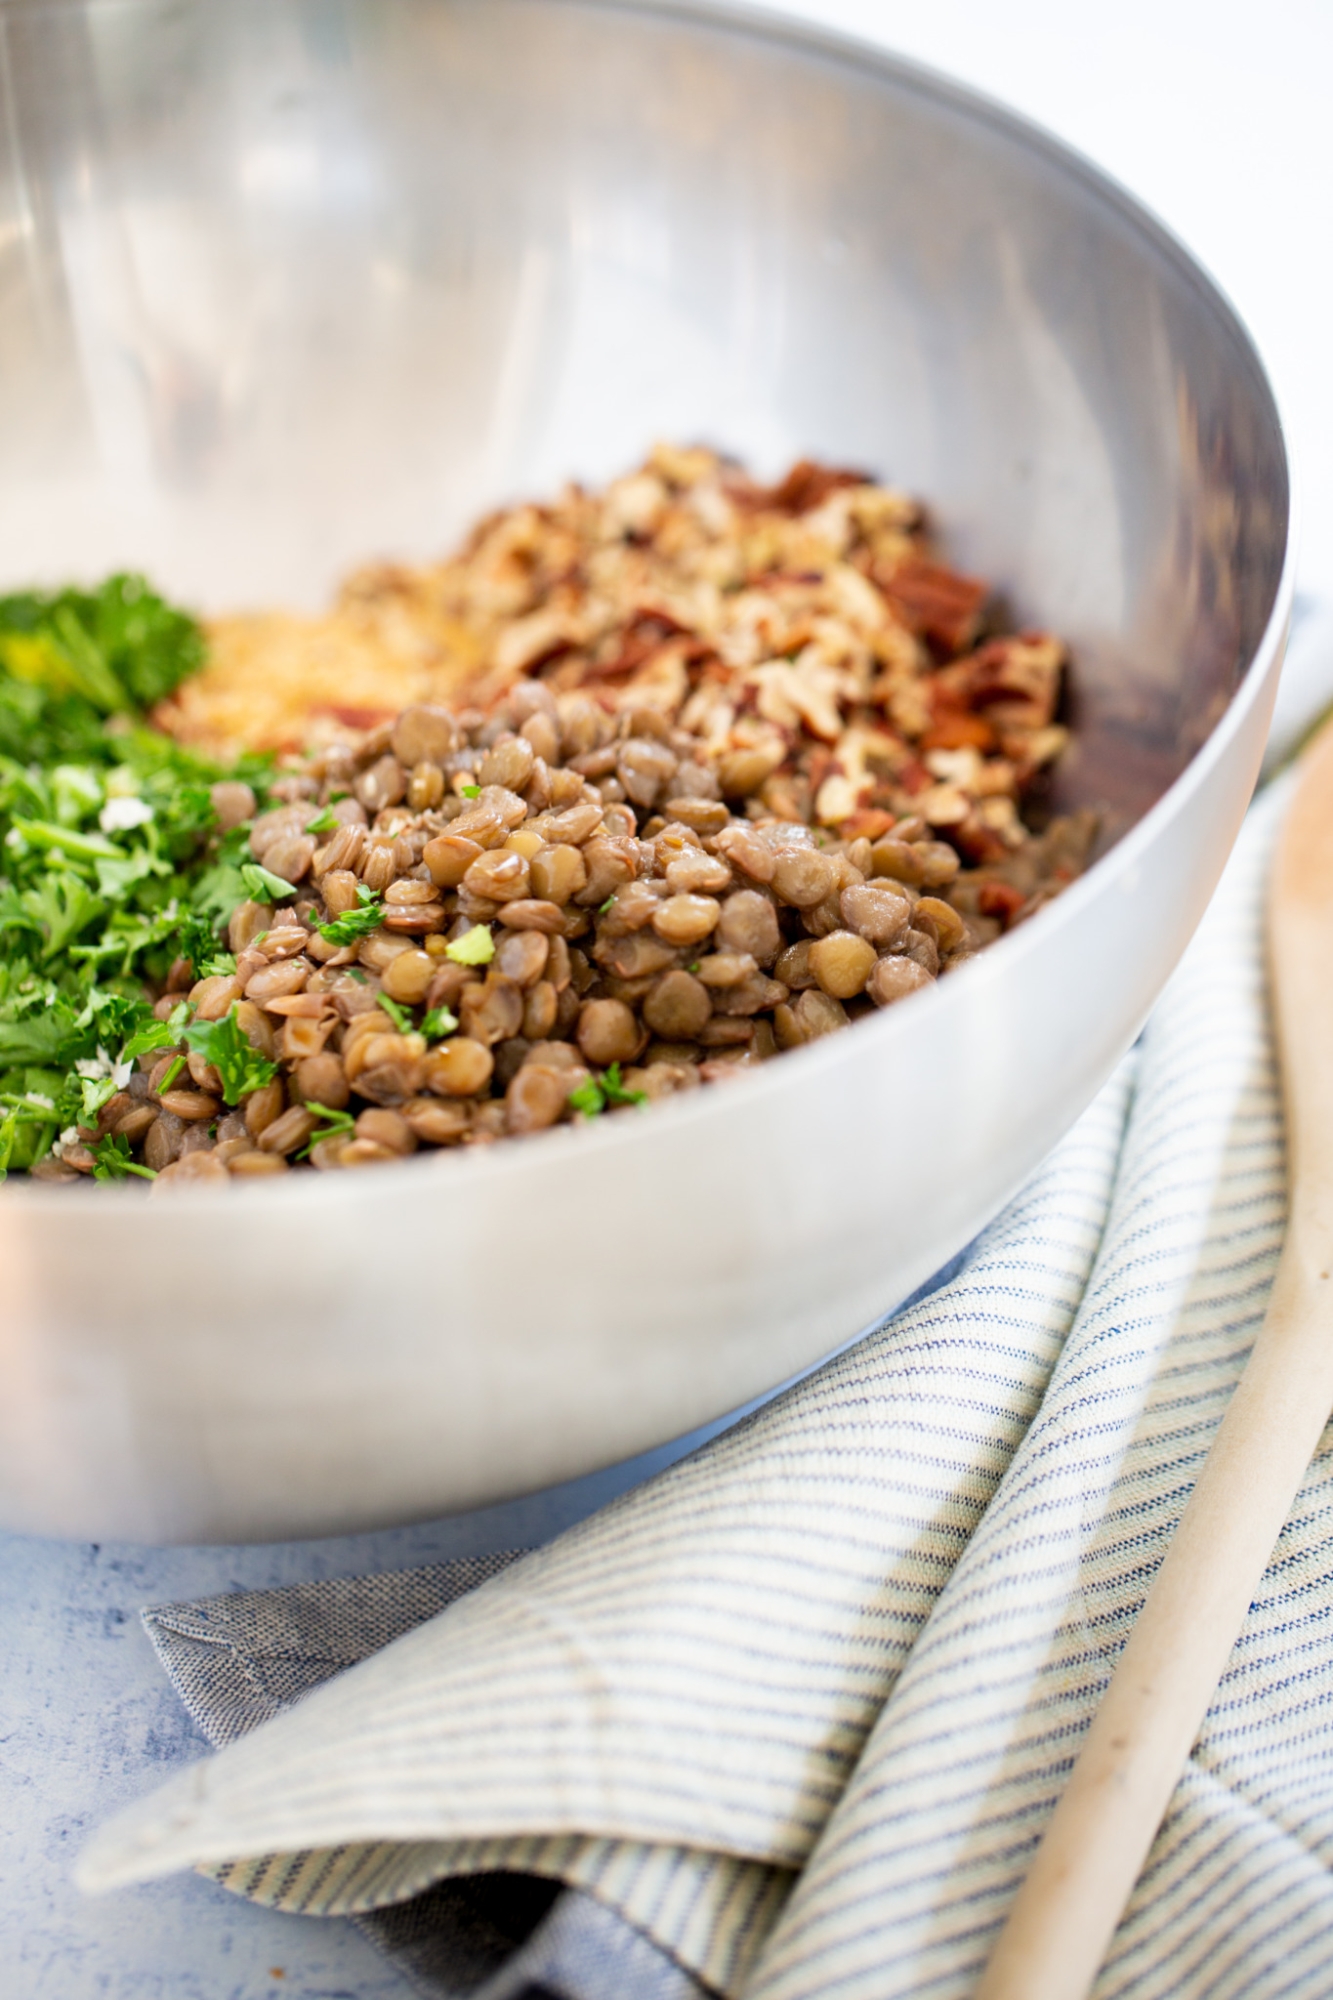
[[[88,1832],[206,1754],[162,1674],[144,1604],[530,1548],[719,1424],[610,1472],[454,1520],[334,1542],[134,1548],[0,1538],[0,1994],[4,2000],[400,2000],[352,1924],[280,1916],[200,1876],[86,1898]]]

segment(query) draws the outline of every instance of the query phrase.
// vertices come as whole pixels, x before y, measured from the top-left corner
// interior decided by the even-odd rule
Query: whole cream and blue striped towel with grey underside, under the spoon
[[[84,1884],[374,1910],[472,2000],[965,1996],[1263,1314],[1277,808],[1137,1074],[929,1298],[492,1574],[152,1612],[228,1742]],[[1329,1992],[1331,1526],[1321,1454],[1101,1994]]]

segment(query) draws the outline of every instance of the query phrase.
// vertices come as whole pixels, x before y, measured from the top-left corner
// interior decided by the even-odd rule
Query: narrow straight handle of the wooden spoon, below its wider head
[[[1083,2000],[1333,1408],[1333,1284],[1289,1242],[1273,1302],[977,2000]],[[1325,1350],[1305,1366],[1309,1334]]]

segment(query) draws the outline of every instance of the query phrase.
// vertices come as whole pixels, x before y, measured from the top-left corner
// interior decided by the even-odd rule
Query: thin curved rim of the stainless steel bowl
[[[152,0],[0,0],[0,18],[12,14],[66,14],[102,8],[124,12],[132,6],[150,4]],[[202,8],[206,6],[206,0],[190,0],[190,4]],[[484,6],[484,0],[468,0],[468,4]],[[534,4],[534,0],[528,0],[528,4]],[[885,1044],[889,1036],[901,1036],[907,1032],[907,1024],[919,1018],[915,1008],[923,1004],[935,1008],[949,1004],[955,980],[963,978],[971,988],[971,982],[977,978],[995,978],[999,976],[999,968],[1017,964],[1021,956],[1031,956],[1033,950],[1045,950],[1047,940],[1055,938],[1057,926],[1069,928],[1075,924],[1083,908],[1109,888],[1113,876],[1133,872],[1141,864],[1147,850],[1157,842],[1163,826],[1185,808],[1191,794],[1205,784],[1209,772],[1227,754],[1251,708],[1261,698],[1273,660],[1275,656],[1281,656],[1291,626],[1297,582],[1301,494],[1291,440],[1283,420],[1283,406],[1243,314],[1207,266],[1155,214],[1155,210],[1139,196],[1131,194],[1113,174],[1089,160],[1087,154],[1079,152],[1079,148],[1071,146],[1063,138],[1057,138],[1037,120],[1027,118],[1027,114],[991,98],[987,92],[977,90],[971,84],[963,84],[929,64],[917,62],[915,58],[899,56],[863,36],[855,36],[839,28],[823,28],[815,22],[803,22],[767,6],[751,6],[747,0],[540,0],[540,4],[558,4],[570,12],[596,10],[630,18],[685,20],[703,28],[737,34],[745,40],[789,46],[801,54],[813,54],[861,72],[881,74],[907,86],[915,94],[933,98],[963,112],[981,126],[1001,132],[1007,140],[1047,160],[1063,176],[1073,178],[1091,196],[1117,212],[1133,234],[1147,238],[1149,246],[1173,266],[1177,276],[1185,280],[1189,290],[1215,316],[1251,374],[1257,390],[1269,404],[1287,482],[1283,562],[1263,632],[1251,650],[1245,670],[1241,672],[1223,714],[1217,718],[1183,770],[1171,780],[1161,796],[1153,800],[1149,810],[1125,834],[1121,834],[1121,838],[1105,854],[1101,854],[1091,868],[1085,870],[1085,874],[1071,882],[1053,904],[1039,910],[1037,916],[1023,924],[1017,932],[997,938],[995,944],[977,956],[977,960],[961,966],[959,972],[953,974],[947,988],[941,990],[941,986],[931,986],[923,994],[909,996],[907,1002],[885,1008],[875,1016],[875,1020],[857,1024],[855,1046],[869,1056],[875,1046],[871,1044],[871,1034],[879,1036],[879,1044]],[[1185,946],[1181,946],[1181,950]],[[903,1014],[905,1006],[909,1008],[907,1016]],[[799,1072],[789,1066],[793,1058],[803,1066]],[[739,1078],[739,1082],[745,1086],[747,1102],[757,1102],[761,1090],[773,1094],[775,1090],[787,1088],[795,1076],[813,1078],[817,1074],[817,1066],[829,1068],[833,1064],[843,1064],[845,1060],[847,1044],[843,1036],[821,1036],[817,1042],[803,1048],[785,1050],[785,1058],[779,1068],[765,1064],[759,1072],[751,1072],[743,1080]],[[566,1160],[572,1164],[576,1158],[588,1158],[588,1150],[594,1146],[622,1148],[648,1142],[652,1134],[662,1132],[666,1120],[671,1120],[671,1128],[679,1128],[683,1120],[715,1120],[725,1116],[731,1102],[733,1096],[727,1086],[705,1092],[689,1092],[652,1106],[652,1118],[646,1128],[628,1116],[612,1116],[596,1122],[580,1120],[578,1126],[556,1126],[550,1132],[530,1134],[530,1138],[542,1140],[542,1152],[536,1160],[546,1168],[558,1170]],[[576,1152],[568,1152],[568,1148],[576,1148]],[[384,1190],[384,1194],[392,1192],[394,1196],[396,1190],[404,1190],[410,1184],[416,1184],[422,1192],[426,1188],[438,1188],[440,1182],[434,1178],[438,1174],[468,1174],[478,1184],[484,1184],[496,1172],[504,1174],[510,1168],[518,1168],[522,1160],[532,1164],[528,1146],[518,1150],[518,1158],[514,1158],[514,1152],[516,1148],[502,1140],[482,1148],[440,1148],[434,1154],[408,1158],[400,1164],[386,1164],[372,1176],[372,1180],[376,1188]],[[426,1178],[422,1168],[428,1168],[430,1178]],[[272,1204],[278,1202],[282,1214],[292,1214],[292,1210],[304,1206],[304,1202],[326,1202],[328,1194],[316,1190],[328,1188],[344,1188],[344,1194],[352,1192],[344,1186],[340,1176],[298,1174],[292,1180],[280,1176],[276,1186],[270,1180],[264,1180],[258,1186],[246,1186],[244,1182],[230,1184],[226,1188],[200,1186],[190,1190],[188,1206],[192,1216],[228,1214],[240,1220],[260,1208],[272,1212]],[[362,1188],[362,1194],[370,1192],[360,1178],[354,1178],[354,1188]],[[76,1216],[88,1212],[90,1202],[96,1204],[98,1214],[106,1214],[108,1210],[122,1216],[140,1212],[144,1194],[146,1190],[142,1186],[90,1184],[86,1188],[44,1188],[40,1182],[34,1184],[30,1180],[22,1180],[4,1188],[4,1202],[8,1208],[52,1212],[74,1220]]]

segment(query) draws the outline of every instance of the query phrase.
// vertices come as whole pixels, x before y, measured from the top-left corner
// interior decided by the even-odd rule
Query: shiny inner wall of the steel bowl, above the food
[[[568,0],[4,10],[4,582],[316,604],[654,438],[925,496],[1065,634],[1061,802],[1177,776],[1271,612],[1263,372],[1005,114],[725,16]]]

